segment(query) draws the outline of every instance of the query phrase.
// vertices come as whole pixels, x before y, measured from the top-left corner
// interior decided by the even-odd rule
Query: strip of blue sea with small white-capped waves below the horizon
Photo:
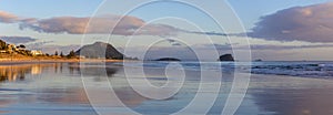
[[[123,63],[123,65],[154,69],[172,66],[173,69],[191,71],[238,71],[253,74],[291,75],[302,77],[333,77],[333,62],[144,62]]]

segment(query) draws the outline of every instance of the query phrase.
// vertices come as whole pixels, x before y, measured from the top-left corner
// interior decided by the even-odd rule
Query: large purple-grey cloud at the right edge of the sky
[[[333,42],[333,2],[295,7],[262,17],[249,32],[276,41]]]

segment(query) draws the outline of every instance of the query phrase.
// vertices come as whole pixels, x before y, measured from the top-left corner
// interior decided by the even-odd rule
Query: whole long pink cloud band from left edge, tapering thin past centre
[[[49,19],[20,18],[0,11],[0,22],[19,23],[20,29],[30,29],[40,33],[69,34],[112,34],[117,35],[160,35],[172,36],[180,32],[225,35],[216,32],[196,32],[179,29],[168,24],[147,23],[140,18],[131,15],[104,14],[98,17],[54,17]]]

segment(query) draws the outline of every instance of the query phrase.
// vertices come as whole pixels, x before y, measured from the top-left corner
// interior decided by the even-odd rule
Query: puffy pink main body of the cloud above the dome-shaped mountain
[[[128,35],[144,24],[144,21],[134,17],[103,15],[95,18],[57,17],[41,20],[30,20],[20,24],[20,29],[31,29],[43,33],[110,33]],[[121,21],[119,23],[118,20]],[[88,27],[88,23],[90,25]],[[88,28],[87,28],[88,27]]]

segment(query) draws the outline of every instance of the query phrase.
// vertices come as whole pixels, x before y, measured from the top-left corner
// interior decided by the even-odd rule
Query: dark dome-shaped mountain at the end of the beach
[[[109,43],[95,42],[83,45],[75,52],[77,55],[88,59],[113,59],[123,60],[124,55]]]

